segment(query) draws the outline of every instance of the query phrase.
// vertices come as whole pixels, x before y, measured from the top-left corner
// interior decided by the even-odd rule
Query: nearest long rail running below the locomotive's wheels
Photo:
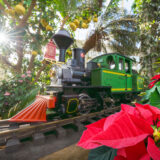
[[[76,117],[69,118],[69,119],[56,120],[53,122],[41,123],[41,124],[34,125],[34,126],[26,126],[23,128],[1,131],[0,132],[0,143],[2,141],[4,142],[4,139],[5,141],[7,141],[8,139],[11,139],[12,137],[16,137],[18,139],[26,138],[28,136],[33,135],[34,133],[48,132],[50,130],[56,129],[58,127],[61,127],[67,124],[71,124],[71,123],[76,124],[76,122],[78,121],[83,122],[83,121],[86,121],[87,119],[98,117],[103,114],[109,114],[119,109],[120,107],[118,106],[114,108],[108,108],[100,112],[84,114],[84,115],[76,116]]]

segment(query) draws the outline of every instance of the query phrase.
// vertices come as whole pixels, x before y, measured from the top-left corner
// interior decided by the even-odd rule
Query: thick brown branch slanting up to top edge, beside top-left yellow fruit
[[[35,7],[35,5],[36,5],[36,0],[32,0],[32,3],[30,5],[30,8],[29,8],[27,14],[22,18],[22,20],[20,21],[19,25],[16,26],[15,29],[19,29],[19,28],[25,27],[25,25],[27,24],[27,20],[31,16],[32,10]]]

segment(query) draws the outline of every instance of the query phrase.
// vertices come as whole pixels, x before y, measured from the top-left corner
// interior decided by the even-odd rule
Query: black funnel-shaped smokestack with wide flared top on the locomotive
[[[64,29],[61,29],[58,31],[58,33],[54,34],[52,39],[60,49],[59,61],[65,62],[65,52],[67,48],[73,43],[73,39],[70,37],[69,32]]]

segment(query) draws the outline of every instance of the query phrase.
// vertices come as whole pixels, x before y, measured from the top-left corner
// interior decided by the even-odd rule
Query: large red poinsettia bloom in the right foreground
[[[148,104],[135,106],[122,104],[120,112],[86,126],[78,145],[118,149],[114,160],[159,160],[160,110]]]

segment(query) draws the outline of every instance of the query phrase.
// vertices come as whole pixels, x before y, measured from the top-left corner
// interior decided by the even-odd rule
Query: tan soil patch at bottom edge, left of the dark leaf
[[[58,152],[42,157],[39,160],[88,160],[88,153],[89,150],[85,150],[74,144]]]

